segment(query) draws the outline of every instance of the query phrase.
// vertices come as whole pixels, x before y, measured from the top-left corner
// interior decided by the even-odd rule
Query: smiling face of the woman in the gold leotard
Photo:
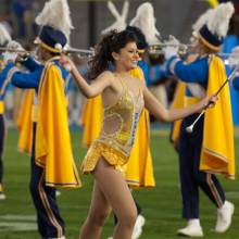
[[[138,65],[139,53],[135,41],[126,43],[118,53],[112,53],[114,58],[115,67],[124,71],[130,71]]]

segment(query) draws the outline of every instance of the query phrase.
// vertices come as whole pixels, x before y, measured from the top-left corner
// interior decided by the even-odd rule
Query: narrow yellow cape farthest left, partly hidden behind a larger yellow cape
[[[26,152],[28,154],[32,152],[33,144],[32,108],[34,91],[34,89],[25,90],[16,122],[16,126],[20,131],[17,149],[20,152]]]

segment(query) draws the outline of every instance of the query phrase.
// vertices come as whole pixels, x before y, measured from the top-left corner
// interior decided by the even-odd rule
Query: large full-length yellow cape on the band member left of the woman
[[[46,185],[62,188],[80,186],[74,163],[67,122],[64,80],[51,59],[38,89],[36,163],[46,171]]]

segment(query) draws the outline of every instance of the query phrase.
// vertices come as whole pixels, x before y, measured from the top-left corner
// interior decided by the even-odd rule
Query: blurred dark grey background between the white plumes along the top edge
[[[27,43],[36,35],[34,20],[45,2],[46,0],[0,0],[0,21],[9,24],[13,38]],[[106,2],[105,0],[68,0],[75,27],[71,37],[74,47],[93,46],[101,30],[114,22]],[[124,0],[113,2],[121,12]],[[137,8],[143,2],[146,1],[129,0],[128,22],[136,15]],[[191,25],[211,7],[211,1],[206,0],[151,0],[149,2],[154,7],[156,27],[162,37],[166,38],[171,34],[181,41],[188,41]]]

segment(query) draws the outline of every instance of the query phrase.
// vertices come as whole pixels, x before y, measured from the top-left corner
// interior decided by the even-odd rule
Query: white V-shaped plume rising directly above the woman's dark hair
[[[115,22],[108,28],[101,30],[101,34],[106,34],[112,29],[116,29],[118,32],[124,30],[126,28],[126,18],[128,16],[128,8],[129,8],[129,3],[128,1],[125,1],[123,5],[122,14],[120,14],[114,3],[112,1],[109,1],[108,9],[112,13],[112,15],[115,17]]]

